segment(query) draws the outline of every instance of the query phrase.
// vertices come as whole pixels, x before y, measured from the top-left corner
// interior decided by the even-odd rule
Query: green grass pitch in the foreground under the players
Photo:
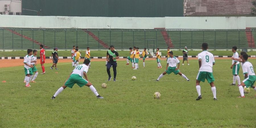
[[[256,66],[255,59],[249,61]],[[0,127],[255,127],[255,91],[251,88],[246,98],[236,98],[240,93],[237,86],[229,85],[233,78],[229,59],[216,60],[213,68],[218,101],[213,100],[207,82],[201,83],[203,99],[195,100],[198,62],[189,62],[180,71],[190,82],[174,74],[154,81],[164,68],[157,69],[155,61],[147,60],[146,67],[140,61],[136,71],[126,61],[118,61],[117,81],[108,82],[105,62],[92,62],[88,79],[102,100],[88,87],[77,85],[51,100],[73,70],[71,63],[58,63],[59,70],[45,64],[46,74],[38,75],[30,88],[22,83],[23,66],[0,68],[4,74],[0,80],[7,81],[0,84]],[[41,73],[40,65],[37,68]],[[137,80],[132,81],[132,76]],[[108,87],[102,89],[102,83]],[[154,92],[161,93],[159,100],[153,98]]]

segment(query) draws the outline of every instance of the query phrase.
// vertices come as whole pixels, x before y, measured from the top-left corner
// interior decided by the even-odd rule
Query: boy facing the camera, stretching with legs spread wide
[[[172,51],[170,51],[168,54],[169,54],[170,57],[167,59],[166,71],[164,71],[164,73],[162,73],[162,74],[158,77],[158,79],[157,79],[156,81],[159,81],[160,78],[162,78],[166,73],[169,75],[169,74],[172,73],[172,72],[173,72],[175,75],[179,74],[179,75],[181,75],[181,77],[185,78],[187,81],[190,81],[189,79],[187,79],[187,77],[186,77],[184,74],[182,74],[182,73],[179,71],[179,65],[180,65],[180,63],[179,63],[178,58],[174,57]],[[176,67],[177,64],[178,64],[178,67]]]

